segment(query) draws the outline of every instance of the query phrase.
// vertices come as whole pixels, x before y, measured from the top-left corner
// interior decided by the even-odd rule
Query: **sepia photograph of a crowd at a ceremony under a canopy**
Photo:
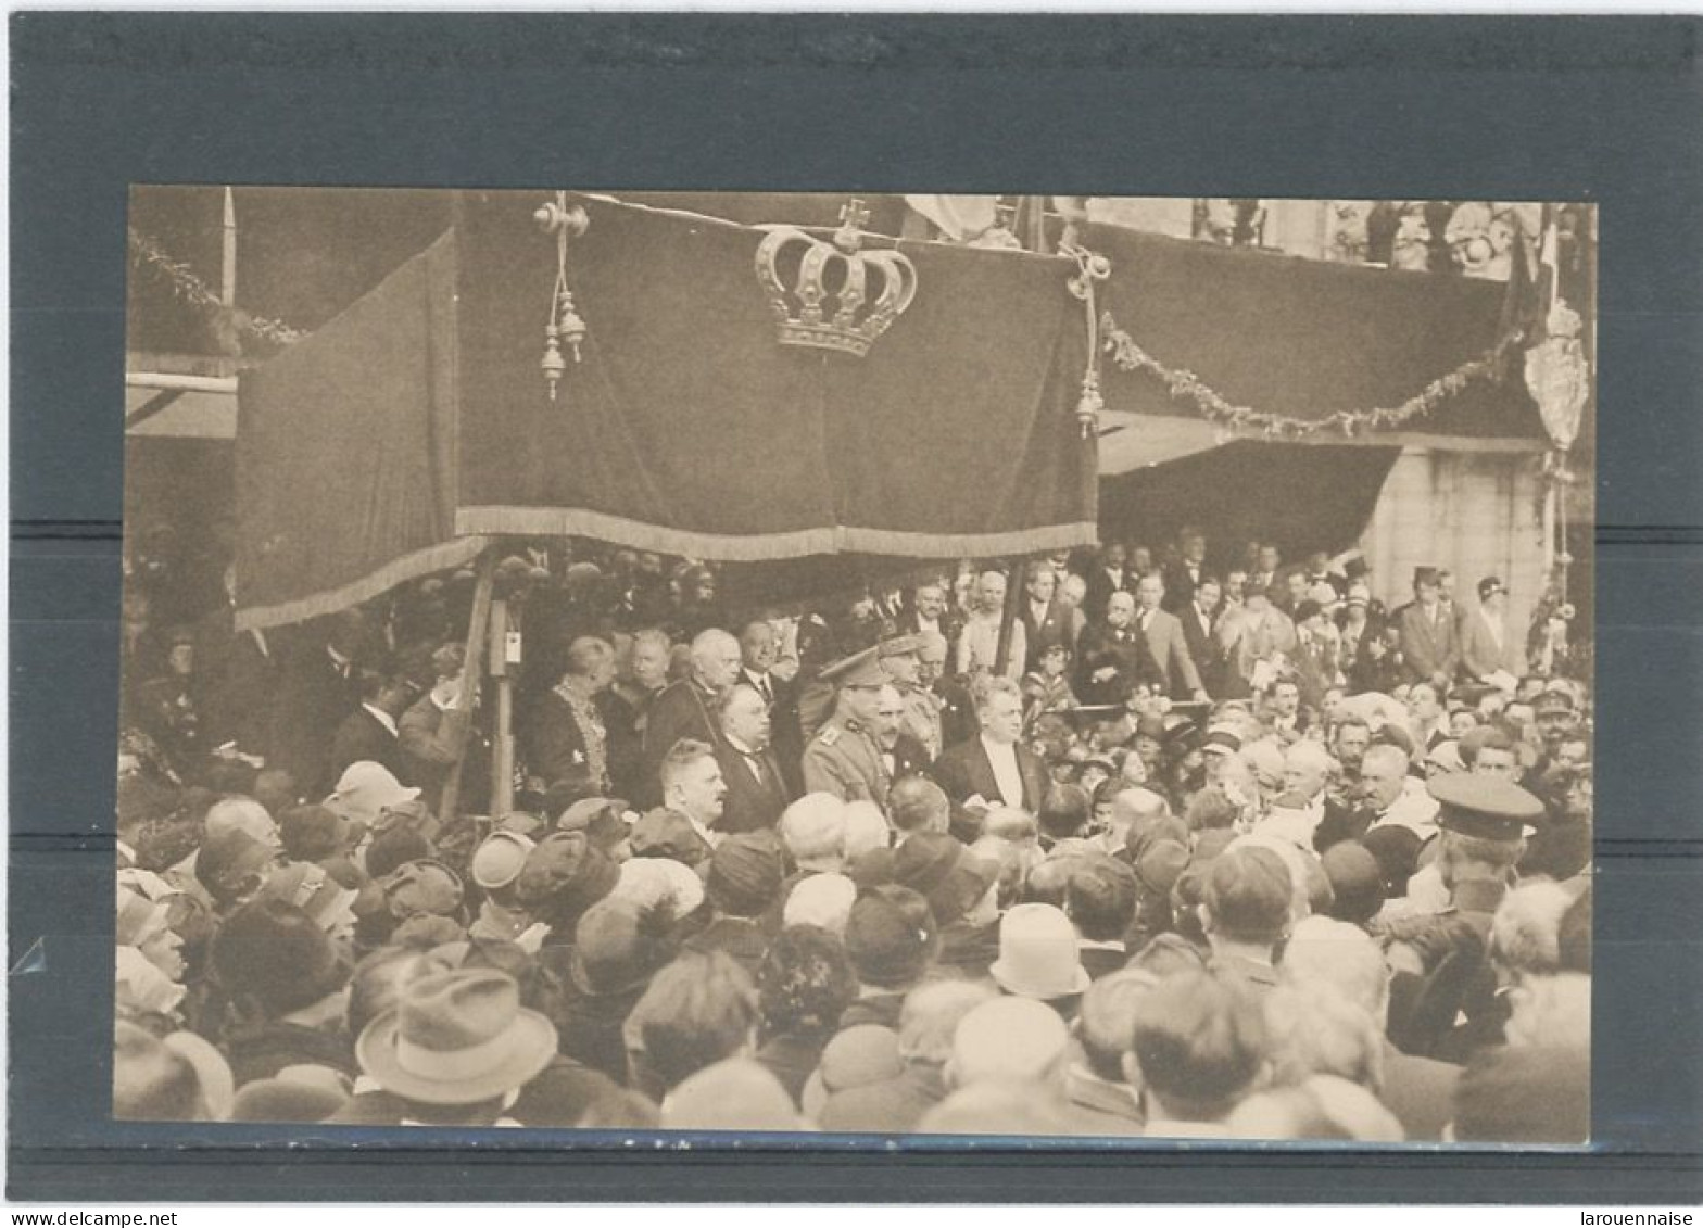
[[[1591,1141],[1594,206],[135,184],[124,279],[112,1117]]]

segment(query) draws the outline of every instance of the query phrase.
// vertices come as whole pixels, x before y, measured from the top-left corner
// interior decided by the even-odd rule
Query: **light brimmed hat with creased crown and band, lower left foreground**
[[[513,976],[458,967],[402,986],[361,1032],[361,1070],[421,1104],[479,1104],[523,1087],[555,1058],[555,1027],[521,1007]]]

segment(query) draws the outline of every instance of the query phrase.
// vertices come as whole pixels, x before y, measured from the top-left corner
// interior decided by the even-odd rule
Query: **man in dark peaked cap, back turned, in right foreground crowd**
[[[1439,807],[1436,864],[1449,906],[1431,925],[1396,935],[1390,966],[1413,979],[1402,988],[1391,983],[1391,1003],[1403,1007],[1391,1036],[1408,1053],[1461,1061],[1500,1042],[1504,1005],[1487,957],[1490,923],[1526,852],[1526,833],[1545,809],[1502,777],[1449,773],[1432,777],[1425,789]]]

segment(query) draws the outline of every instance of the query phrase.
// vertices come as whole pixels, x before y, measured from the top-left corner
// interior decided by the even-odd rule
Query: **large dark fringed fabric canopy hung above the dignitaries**
[[[916,298],[852,358],[778,344],[761,230],[586,198],[569,281],[589,336],[552,400],[538,203],[463,196],[426,252],[244,376],[242,625],[376,596],[494,533],[719,560],[1095,540],[1073,262],[899,244]]]

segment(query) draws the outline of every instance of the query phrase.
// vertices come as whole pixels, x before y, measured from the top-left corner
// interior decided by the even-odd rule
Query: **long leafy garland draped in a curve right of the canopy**
[[[1204,385],[1194,371],[1177,371],[1153,358],[1153,354],[1136,344],[1134,337],[1117,327],[1110,312],[1100,315],[1100,334],[1104,337],[1102,347],[1112,356],[1119,370],[1153,375],[1165,385],[1172,397],[1192,400],[1213,422],[1238,433],[1262,433],[1267,438],[1291,439],[1323,431],[1340,431],[1345,436],[1359,431],[1388,431],[1413,417],[1429,414],[1471,383],[1502,378],[1509,353],[1519,346],[1524,336],[1519,329],[1509,332],[1478,358],[1461,363],[1448,375],[1432,380],[1415,397],[1393,409],[1339,409],[1335,414],[1325,417],[1299,419],[1247,405],[1231,405]]]

